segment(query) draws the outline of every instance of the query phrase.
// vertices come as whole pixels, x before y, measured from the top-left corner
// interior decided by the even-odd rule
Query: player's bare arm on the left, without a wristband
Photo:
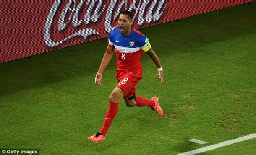
[[[102,73],[106,69],[107,65],[109,64],[114,52],[114,46],[107,46],[107,50],[102,58],[102,62],[100,64],[99,70],[95,76],[95,83],[98,85],[102,85],[101,80],[102,80]]]

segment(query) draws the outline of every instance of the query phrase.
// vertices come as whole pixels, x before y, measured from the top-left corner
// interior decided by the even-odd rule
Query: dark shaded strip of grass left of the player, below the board
[[[106,42],[91,41],[0,64],[0,97],[79,76],[94,76]],[[94,83],[94,77],[89,80]]]

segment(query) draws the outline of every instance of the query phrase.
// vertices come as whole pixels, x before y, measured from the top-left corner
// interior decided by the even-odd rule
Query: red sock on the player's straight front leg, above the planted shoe
[[[99,130],[105,136],[107,134],[107,130],[110,127],[112,121],[115,118],[115,115],[118,113],[118,103],[110,102],[110,105],[107,109],[107,114],[105,115],[105,119],[103,122],[102,128]]]

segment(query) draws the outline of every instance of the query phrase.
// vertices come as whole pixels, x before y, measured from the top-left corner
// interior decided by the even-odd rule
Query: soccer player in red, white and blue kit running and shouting
[[[161,83],[164,82],[164,73],[157,54],[151,48],[149,39],[144,34],[131,28],[132,25],[132,13],[123,11],[119,15],[118,28],[115,28],[109,35],[107,51],[96,74],[95,83],[102,85],[102,73],[109,64],[115,49],[118,84],[110,93],[109,107],[102,128],[98,133],[88,137],[88,140],[94,142],[103,142],[105,140],[107,130],[118,112],[118,102],[122,98],[124,98],[127,107],[148,106],[156,111],[160,117],[163,116],[157,97],[147,99],[135,95],[136,85],[142,78],[141,55],[143,52],[148,54],[158,67],[157,76]]]

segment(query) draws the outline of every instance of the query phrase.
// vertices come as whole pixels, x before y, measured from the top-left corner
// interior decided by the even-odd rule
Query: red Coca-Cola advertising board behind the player
[[[139,29],[250,1],[0,0],[0,63],[107,37],[123,10]]]

